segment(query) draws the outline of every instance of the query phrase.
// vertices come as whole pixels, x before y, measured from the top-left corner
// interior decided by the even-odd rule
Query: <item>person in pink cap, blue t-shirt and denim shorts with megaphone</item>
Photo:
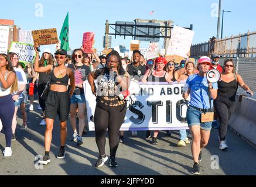
[[[202,56],[199,61],[199,74],[190,75],[187,78],[187,90],[183,91],[183,98],[190,95],[189,106],[187,107],[187,124],[192,134],[192,174],[199,175],[199,162],[202,159],[202,149],[206,147],[213,121],[213,99],[217,97],[217,82],[209,82],[206,74],[209,71],[211,60]],[[212,76],[212,75],[211,75]]]

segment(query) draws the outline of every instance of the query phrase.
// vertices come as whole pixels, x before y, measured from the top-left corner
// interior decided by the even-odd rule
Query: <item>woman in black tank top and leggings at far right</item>
[[[228,120],[234,112],[235,94],[237,93],[238,85],[253,95],[251,89],[244,83],[243,78],[238,74],[234,74],[234,63],[232,59],[227,59],[224,61],[224,71],[218,81],[219,89],[217,98],[214,100],[214,107],[220,120],[220,150],[227,149],[225,137],[227,133]]]

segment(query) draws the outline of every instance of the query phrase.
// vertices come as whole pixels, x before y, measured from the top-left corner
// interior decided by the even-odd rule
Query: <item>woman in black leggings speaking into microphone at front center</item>
[[[96,90],[94,79],[97,79]],[[117,167],[115,153],[119,144],[118,132],[124,122],[127,103],[120,98],[120,89],[126,91],[129,85],[129,74],[122,68],[121,57],[117,51],[111,51],[107,55],[105,68],[100,68],[88,75],[91,91],[97,95],[94,114],[95,140],[100,155],[95,167],[101,167],[108,160],[105,154],[105,134],[108,129],[110,138],[110,167]]]

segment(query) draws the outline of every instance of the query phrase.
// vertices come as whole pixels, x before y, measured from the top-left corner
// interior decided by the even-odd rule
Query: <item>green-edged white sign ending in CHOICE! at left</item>
[[[16,53],[21,63],[33,63],[35,61],[36,51],[32,44],[12,41],[9,51]]]

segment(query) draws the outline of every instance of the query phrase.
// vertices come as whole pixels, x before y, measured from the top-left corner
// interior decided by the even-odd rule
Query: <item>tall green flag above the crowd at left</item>
[[[61,41],[60,49],[69,51],[69,12],[64,20],[62,31],[60,32],[59,41]]]

